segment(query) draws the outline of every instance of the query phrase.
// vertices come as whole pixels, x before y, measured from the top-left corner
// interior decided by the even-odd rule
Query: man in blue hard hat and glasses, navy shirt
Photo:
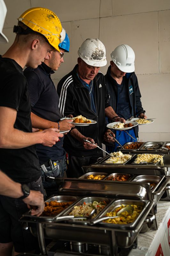
[[[58,70],[61,63],[64,62],[64,52],[69,52],[70,41],[67,34],[64,41],[58,46],[60,52],[48,52],[48,58],[38,68],[28,67],[24,70],[24,75],[27,78],[31,99],[31,121],[33,127],[45,129],[53,126],[60,130],[69,131],[74,125],[70,123],[72,120],[64,119],[60,121],[62,115],[58,107],[59,97],[51,79],[51,74]],[[55,180],[49,180],[46,177],[63,177],[64,171],[66,171],[66,152],[62,146],[63,139],[64,137],[51,148],[41,144],[36,146],[36,153],[42,171],[43,187],[46,189],[46,193],[48,193],[47,188],[56,187]]]

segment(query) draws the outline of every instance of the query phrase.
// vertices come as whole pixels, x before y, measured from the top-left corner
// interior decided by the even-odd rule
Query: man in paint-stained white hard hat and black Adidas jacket
[[[76,126],[65,136],[63,147],[69,155],[69,177],[80,177],[83,174],[81,166],[95,163],[103,156],[102,150],[84,139],[102,147],[107,131],[105,115],[110,119],[117,116],[108,103],[105,79],[99,71],[107,64],[105,53],[104,44],[99,39],[87,38],[78,50],[78,64],[58,83],[61,114],[82,115],[97,122]]]

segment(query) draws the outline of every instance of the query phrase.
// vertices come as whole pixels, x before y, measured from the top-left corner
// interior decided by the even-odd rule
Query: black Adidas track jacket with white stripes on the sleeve
[[[76,129],[86,137],[92,138],[101,147],[105,127],[105,108],[109,107],[109,94],[106,88],[104,75],[99,71],[93,79],[95,86],[95,105],[97,114],[91,109],[89,91],[86,89],[77,76],[78,64],[73,70],[64,76],[58,83],[57,92],[60,97],[59,108],[61,115],[72,114],[74,117],[82,115],[88,119],[97,121],[97,124],[88,126],[76,126]],[[64,149],[72,156],[93,156],[98,148],[87,150],[79,140],[76,140],[69,133],[64,138]]]

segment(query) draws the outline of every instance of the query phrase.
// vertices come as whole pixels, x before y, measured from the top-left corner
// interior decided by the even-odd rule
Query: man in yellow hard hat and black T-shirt
[[[23,198],[30,189],[44,193],[35,144],[52,147],[63,134],[57,128],[32,132],[31,105],[23,68],[37,68],[65,38],[56,14],[48,9],[28,9],[14,26],[12,46],[0,56],[0,169],[21,183],[23,196],[0,196],[0,255],[11,256],[34,251],[35,237],[22,229],[19,218],[28,210]]]

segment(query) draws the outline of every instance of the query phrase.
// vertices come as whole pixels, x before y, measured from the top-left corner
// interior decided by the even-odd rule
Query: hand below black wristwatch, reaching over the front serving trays
[[[29,209],[36,206],[36,209],[31,210],[31,215],[40,216],[44,210],[44,196],[40,191],[30,190],[29,196],[23,199]],[[35,208],[35,207],[34,207]]]

